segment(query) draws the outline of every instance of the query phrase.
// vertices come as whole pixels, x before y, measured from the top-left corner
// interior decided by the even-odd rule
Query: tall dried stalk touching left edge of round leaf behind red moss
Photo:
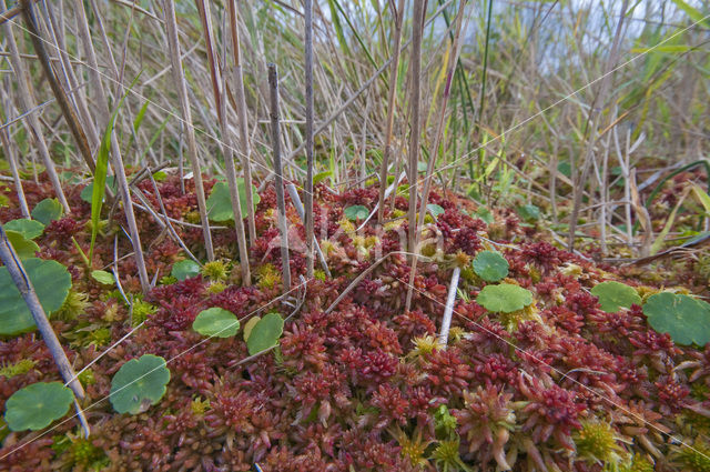
[[[202,235],[204,238],[204,248],[207,253],[207,260],[214,260],[214,249],[212,247],[212,233],[210,232],[210,220],[207,219],[207,204],[204,198],[204,185],[202,183],[202,171],[200,170],[200,161],[197,158],[197,142],[195,140],[195,131],[192,124],[192,112],[190,110],[190,101],[187,99],[187,86],[185,83],[185,74],[182,69],[180,59],[180,41],[178,40],[178,21],[175,19],[175,6],[173,0],[163,2],[165,12],[165,28],[168,29],[168,46],[170,61],[173,69],[173,81],[178,96],[180,97],[180,107],[182,109],[182,120],[185,123],[185,134],[187,138],[187,154],[192,167],[192,174],[195,181],[195,194],[197,197],[197,210],[200,211],[200,222],[202,223]]]

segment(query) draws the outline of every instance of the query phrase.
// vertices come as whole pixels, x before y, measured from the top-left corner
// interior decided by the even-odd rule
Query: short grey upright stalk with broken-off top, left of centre
[[[276,64],[268,64],[268,88],[271,94],[271,135],[274,152],[274,175],[276,187],[276,207],[278,210],[278,230],[281,232],[281,265],[284,293],[291,290],[291,264],[288,263],[288,228],[286,225],[286,202],[284,201],[284,179],[281,168],[281,133],[278,130],[278,74]]]

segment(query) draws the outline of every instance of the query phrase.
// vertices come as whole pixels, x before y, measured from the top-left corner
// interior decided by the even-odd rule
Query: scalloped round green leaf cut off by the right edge
[[[659,333],[668,333],[677,344],[710,342],[710,304],[688,295],[656,293],[643,304],[648,323]]]

